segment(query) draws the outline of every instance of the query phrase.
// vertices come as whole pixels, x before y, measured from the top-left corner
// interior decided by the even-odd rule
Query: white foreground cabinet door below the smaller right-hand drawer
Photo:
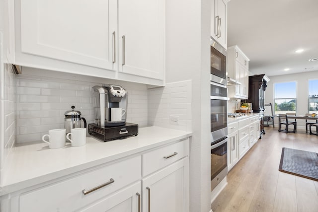
[[[188,157],[143,179],[143,212],[188,212]]]

